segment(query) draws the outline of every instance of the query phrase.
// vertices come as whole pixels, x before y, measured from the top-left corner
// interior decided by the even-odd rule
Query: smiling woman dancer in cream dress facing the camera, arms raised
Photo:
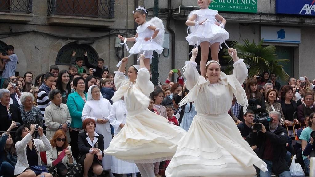
[[[266,163],[257,157],[242,138],[228,110],[233,94],[246,111],[247,98],[240,83],[247,77],[243,60],[235,49],[228,49],[234,61],[232,75],[221,72],[218,62],[211,60],[206,65],[206,74],[200,76],[195,58],[198,49],[193,49],[184,72],[189,94],[180,105],[195,101],[197,115],[191,127],[177,147],[176,154],[166,169],[167,177],[253,177],[257,166],[266,171]]]

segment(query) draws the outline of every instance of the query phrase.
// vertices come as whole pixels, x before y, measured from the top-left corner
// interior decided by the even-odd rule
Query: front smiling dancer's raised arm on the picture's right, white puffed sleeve
[[[228,52],[234,61],[233,76],[236,77],[240,84],[243,84],[247,77],[247,67],[243,59],[238,58],[236,49],[229,48]]]

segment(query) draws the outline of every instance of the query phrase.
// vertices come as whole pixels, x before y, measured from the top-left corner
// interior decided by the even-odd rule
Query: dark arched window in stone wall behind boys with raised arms
[[[77,52],[75,57],[82,57],[83,59],[84,52],[87,51],[89,63],[97,66],[99,56],[95,49],[90,45],[77,43],[69,43],[59,50],[56,58],[56,65],[70,65],[73,51]],[[84,60],[83,65],[85,66]]]

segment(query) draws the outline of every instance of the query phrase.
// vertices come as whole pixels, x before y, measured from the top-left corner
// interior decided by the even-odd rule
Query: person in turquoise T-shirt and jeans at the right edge
[[[303,162],[305,165],[305,173],[309,173],[310,169],[310,158],[315,157],[314,148],[314,137],[315,137],[315,112],[310,115],[308,127],[304,128],[300,140],[302,142],[303,151]]]

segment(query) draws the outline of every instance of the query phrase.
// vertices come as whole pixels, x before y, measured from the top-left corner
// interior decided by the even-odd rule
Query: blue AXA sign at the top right
[[[315,16],[315,0],[276,0],[276,13]]]

